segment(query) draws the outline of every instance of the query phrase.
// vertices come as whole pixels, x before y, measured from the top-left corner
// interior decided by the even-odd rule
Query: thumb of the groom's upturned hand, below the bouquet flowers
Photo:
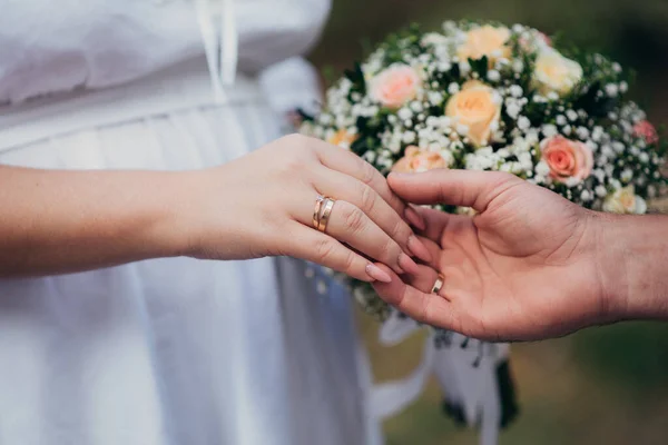
[[[434,169],[423,174],[393,172],[387,182],[410,202],[473,207],[482,212],[497,196],[523,181],[500,171]]]

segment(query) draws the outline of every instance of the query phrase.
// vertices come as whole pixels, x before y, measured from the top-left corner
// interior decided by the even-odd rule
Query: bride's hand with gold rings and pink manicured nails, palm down
[[[194,175],[187,211],[191,256],[292,256],[366,281],[390,277],[365,256],[397,274],[416,271],[411,256],[430,259],[403,219],[423,225],[415,210],[371,165],[323,141],[287,136]],[[326,233],[312,224],[318,196],[335,200]]]

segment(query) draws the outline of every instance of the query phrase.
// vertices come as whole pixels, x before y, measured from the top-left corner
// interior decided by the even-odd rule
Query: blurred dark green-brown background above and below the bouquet
[[[334,0],[332,19],[311,58],[341,72],[389,32],[446,19],[522,22],[561,33],[638,72],[632,95],[656,123],[668,123],[668,0]],[[668,210],[668,200],[656,208]],[[423,336],[381,347],[377,326],[360,326],[379,380],[416,366]],[[514,345],[522,413],[502,444],[668,444],[668,325],[631,323],[567,338]],[[469,445],[477,435],[441,414],[431,383],[406,412],[385,423],[387,445]]]

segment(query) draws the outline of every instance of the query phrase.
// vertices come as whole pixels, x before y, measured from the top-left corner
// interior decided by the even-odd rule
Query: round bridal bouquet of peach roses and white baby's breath
[[[507,171],[587,208],[642,214],[645,199],[664,184],[667,146],[625,98],[628,81],[618,63],[563,48],[536,29],[448,21],[439,32],[414,27],[390,37],[328,89],[322,111],[305,116],[302,131],[352,150],[383,174]],[[351,286],[367,313],[402,317],[371,286]],[[435,348],[477,343],[473,367],[495,346],[448,332],[432,338]],[[507,364],[499,363],[489,366],[504,373],[497,375],[503,424],[515,409]],[[449,405],[450,414],[478,423],[474,404],[465,415],[461,405],[459,412]]]

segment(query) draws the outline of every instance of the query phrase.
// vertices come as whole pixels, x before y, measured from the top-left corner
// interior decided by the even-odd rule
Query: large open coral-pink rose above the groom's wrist
[[[540,142],[542,160],[550,167],[550,177],[558,181],[586,179],[593,168],[591,149],[580,141],[554,136]]]

